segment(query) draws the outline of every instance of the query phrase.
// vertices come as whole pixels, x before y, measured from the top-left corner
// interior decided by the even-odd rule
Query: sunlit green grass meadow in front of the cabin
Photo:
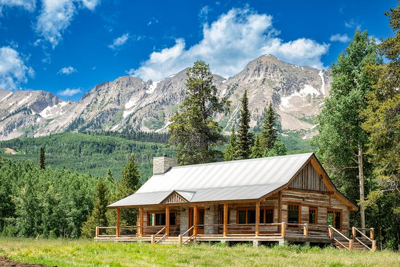
[[[331,247],[189,246],[0,238],[0,256],[49,266],[400,266],[389,251],[348,252]]]

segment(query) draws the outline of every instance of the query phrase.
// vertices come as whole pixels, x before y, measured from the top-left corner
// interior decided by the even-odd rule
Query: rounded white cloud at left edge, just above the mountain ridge
[[[27,76],[34,74],[16,50],[9,46],[0,48],[0,89],[16,90],[19,84],[28,81]]]

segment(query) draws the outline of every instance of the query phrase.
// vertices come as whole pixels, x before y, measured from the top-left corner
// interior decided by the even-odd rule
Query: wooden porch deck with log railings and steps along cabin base
[[[165,234],[165,227],[161,228],[154,235],[137,235],[136,233],[129,233],[126,235],[100,235],[101,229],[114,229],[116,233],[121,230],[135,232],[134,227],[121,227],[116,229],[116,227],[96,227],[95,241],[115,241],[115,242],[150,242],[159,244],[185,244],[189,242],[253,242],[254,246],[258,246],[262,243],[278,243],[287,244],[288,242],[304,243],[304,244],[332,244],[341,249],[347,250],[375,250],[376,241],[374,240],[374,229],[367,228],[355,228],[352,227],[351,236],[353,239],[349,239],[341,232],[336,230],[330,225],[308,225],[305,224],[290,224],[288,227],[286,222],[273,223],[273,226],[277,227],[276,232],[270,232],[266,234],[261,234],[263,232],[258,230],[245,231],[242,234],[236,234],[238,230],[228,231],[226,234],[193,234],[194,227],[204,227],[206,225],[193,225],[182,235],[171,235],[167,236]],[[271,227],[272,225],[268,225]],[[218,227],[218,225],[207,225],[211,227]],[[297,226],[296,228],[293,226]],[[249,227],[248,225],[246,227]],[[250,227],[251,229],[251,227]],[[361,231],[360,231],[361,230]],[[243,230],[242,230],[243,231]],[[369,237],[367,237],[364,232],[369,231]],[[232,234],[234,232],[235,234]],[[250,234],[250,232],[252,232]],[[359,237],[357,237],[357,234]]]

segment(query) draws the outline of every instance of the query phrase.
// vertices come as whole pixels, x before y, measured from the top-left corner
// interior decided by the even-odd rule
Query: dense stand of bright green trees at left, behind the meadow
[[[93,208],[97,178],[0,157],[0,232],[72,237]]]

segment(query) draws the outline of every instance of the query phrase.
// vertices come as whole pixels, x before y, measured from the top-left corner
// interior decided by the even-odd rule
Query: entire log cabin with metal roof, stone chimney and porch
[[[372,228],[350,227],[349,213],[358,207],[334,186],[314,153],[188,166],[157,157],[153,176],[108,207],[116,209],[116,226],[96,226],[95,240],[375,249]],[[126,208],[137,209],[136,225],[120,225]]]

